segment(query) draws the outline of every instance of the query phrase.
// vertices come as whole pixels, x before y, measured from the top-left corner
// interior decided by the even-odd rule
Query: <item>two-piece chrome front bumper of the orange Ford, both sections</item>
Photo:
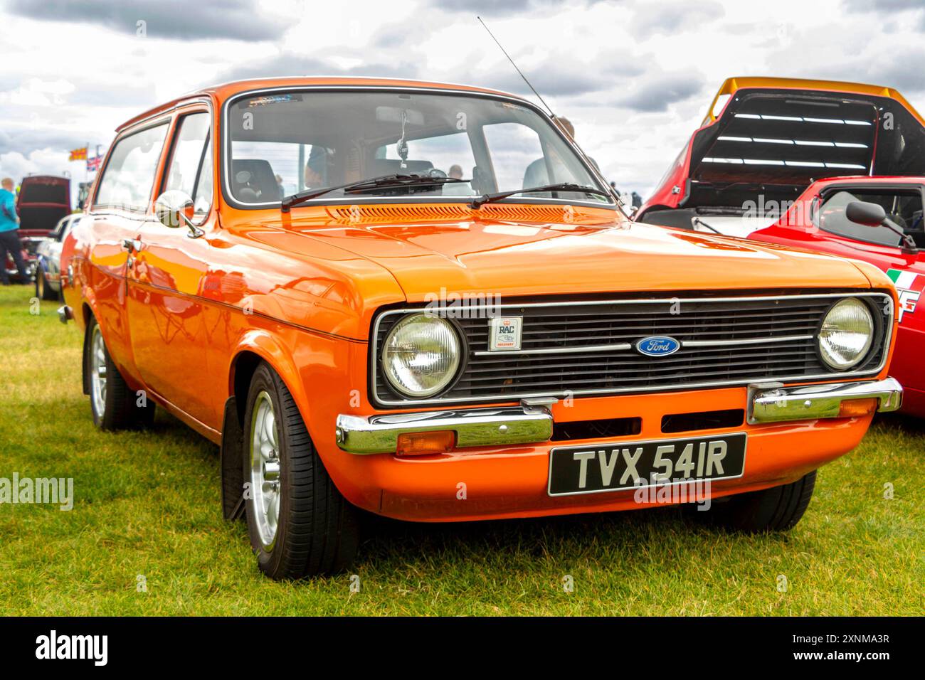
[[[826,383],[785,388],[781,383],[748,386],[749,425],[837,418],[842,402],[877,399],[877,411],[897,410],[903,388],[892,377],[875,382]],[[461,411],[338,416],[336,439],[343,451],[394,453],[402,434],[451,430],[456,448],[536,444],[552,437],[552,414],[544,406],[502,406]]]

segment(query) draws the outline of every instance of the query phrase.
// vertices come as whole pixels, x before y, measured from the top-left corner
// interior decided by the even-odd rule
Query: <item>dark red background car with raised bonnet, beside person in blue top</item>
[[[48,238],[63,217],[70,215],[70,179],[51,175],[24,177],[19,183],[16,211],[23,260],[31,277],[35,273],[39,244]],[[11,265],[10,261],[7,268]]]

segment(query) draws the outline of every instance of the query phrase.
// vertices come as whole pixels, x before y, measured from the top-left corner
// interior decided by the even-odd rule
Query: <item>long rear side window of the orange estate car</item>
[[[163,123],[116,142],[100,179],[94,208],[148,209],[166,132],[167,124]]]

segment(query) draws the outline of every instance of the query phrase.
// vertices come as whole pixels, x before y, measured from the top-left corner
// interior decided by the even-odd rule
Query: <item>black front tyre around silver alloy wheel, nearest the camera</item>
[[[263,422],[260,418],[265,414],[266,397],[275,423],[275,448],[269,461],[254,452],[254,430]],[[258,402],[263,404],[259,408]],[[289,389],[265,363],[251,379],[242,430],[244,482],[252,485],[245,502],[247,528],[260,570],[280,580],[333,575],[346,569],[359,543],[358,511],[327,475]],[[263,505],[267,483],[253,470],[267,470],[269,463],[278,468],[278,491],[269,492],[278,494],[277,505],[271,505],[278,507],[278,518],[272,538],[266,539],[261,530],[267,526],[265,516],[272,513],[263,513],[258,503]]]

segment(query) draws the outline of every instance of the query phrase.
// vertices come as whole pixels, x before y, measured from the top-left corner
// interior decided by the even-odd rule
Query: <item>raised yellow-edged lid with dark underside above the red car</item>
[[[827,177],[925,174],[922,118],[888,88],[730,79],[704,122],[641,212],[794,200]]]

